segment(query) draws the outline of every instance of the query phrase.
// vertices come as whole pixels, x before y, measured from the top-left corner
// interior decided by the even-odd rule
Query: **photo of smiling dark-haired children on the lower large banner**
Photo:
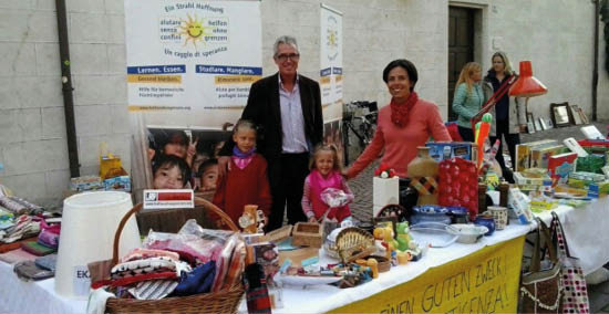
[[[147,154],[152,166],[151,189],[193,189],[213,192],[218,177],[218,153],[230,136],[223,129],[147,127]]]

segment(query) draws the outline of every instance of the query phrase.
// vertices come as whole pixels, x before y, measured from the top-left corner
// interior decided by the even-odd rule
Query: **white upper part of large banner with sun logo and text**
[[[260,1],[125,0],[128,107],[157,127],[218,129],[262,76]]]

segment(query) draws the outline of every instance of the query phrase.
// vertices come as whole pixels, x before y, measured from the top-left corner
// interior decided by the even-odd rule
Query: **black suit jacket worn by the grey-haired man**
[[[258,127],[257,151],[272,163],[281,156],[282,137],[281,111],[279,108],[279,73],[261,78],[251,84],[247,105],[241,118],[252,121]],[[299,75],[298,88],[304,117],[304,134],[312,149],[321,143],[323,134],[323,117],[321,113],[321,95],[319,84],[306,76]],[[220,155],[231,155],[235,143],[229,138]],[[311,151],[312,153],[312,151]]]

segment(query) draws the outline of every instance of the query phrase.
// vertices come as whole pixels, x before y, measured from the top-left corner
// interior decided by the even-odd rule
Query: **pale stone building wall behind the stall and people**
[[[99,171],[100,144],[107,143],[130,171],[131,132],[121,0],[70,0],[69,36],[81,175]],[[65,118],[53,0],[0,1],[0,182],[18,195],[58,205],[69,186]],[[321,1],[262,0],[264,73],[276,71],[272,42],[295,35],[300,72],[319,77]],[[382,70],[406,57],[419,69],[416,92],[436,103],[445,119],[454,75],[455,36],[467,36],[467,61],[491,66],[502,50],[517,70],[530,60],[549,90],[529,101],[536,117],[549,104],[577,104],[591,118],[593,19],[591,1],[578,0],[328,0],[343,13],[343,98],[389,102]],[[467,30],[451,34],[454,14]],[[461,12],[461,13],[460,13]],[[465,23],[465,24],[467,24]],[[609,119],[609,76],[603,69],[600,24],[598,118]],[[244,48],[247,53],[247,48]],[[457,62],[458,63],[458,62]],[[454,86],[453,86],[454,87]]]

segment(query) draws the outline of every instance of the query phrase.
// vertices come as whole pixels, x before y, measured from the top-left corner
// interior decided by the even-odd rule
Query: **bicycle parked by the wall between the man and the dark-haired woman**
[[[372,142],[374,132],[376,130],[378,118],[376,102],[351,102],[344,104],[342,116],[342,142],[344,145],[344,164],[349,165],[350,153],[361,151]],[[355,147],[353,135],[357,138],[358,146]],[[355,151],[359,150],[359,151]],[[351,151],[353,150],[353,151]]]

